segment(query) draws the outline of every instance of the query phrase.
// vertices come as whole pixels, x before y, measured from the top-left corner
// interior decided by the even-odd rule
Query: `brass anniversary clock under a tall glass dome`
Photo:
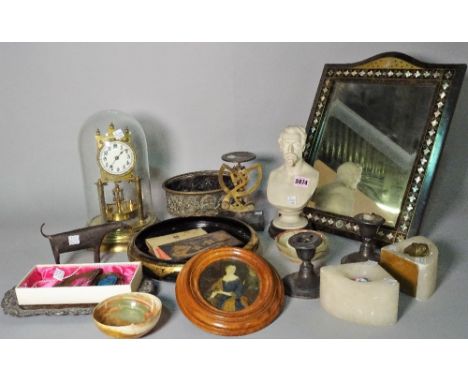
[[[101,111],[84,123],[79,144],[88,225],[125,221],[132,229],[119,229],[103,243],[110,251],[126,250],[131,236],[156,220],[143,128],[121,111]]]

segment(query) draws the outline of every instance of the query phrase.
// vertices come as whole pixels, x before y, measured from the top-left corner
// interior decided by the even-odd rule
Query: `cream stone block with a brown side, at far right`
[[[402,292],[427,300],[437,283],[439,250],[424,236],[414,236],[381,249],[380,264],[400,283]]]

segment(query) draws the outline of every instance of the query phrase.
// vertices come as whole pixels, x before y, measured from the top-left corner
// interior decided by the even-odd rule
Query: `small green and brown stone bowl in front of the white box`
[[[149,293],[123,293],[100,302],[93,310],[98,329],[115,338],[138,338],[156,326],[161,300]]]

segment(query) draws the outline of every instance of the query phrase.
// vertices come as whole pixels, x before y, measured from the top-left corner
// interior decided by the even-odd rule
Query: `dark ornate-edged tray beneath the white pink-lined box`
[[[143,278],[138,292],[153,293],[155,289],[152,279]],[[96,305],[97,304],[18,305],[15,287],[9,289],[2,300],[3,312],[15,317],[87,315],[93,312]]]

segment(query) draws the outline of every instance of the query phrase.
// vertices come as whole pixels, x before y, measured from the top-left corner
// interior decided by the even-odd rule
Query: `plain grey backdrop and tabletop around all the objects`
[[[143,125],[150,152],[153,202],[166,216],[161,183],[169,176],[216,169],[221,154],[257,153],[266,176],[280,163],[277,137],[288,124],[306,124],[325,63],[359,61],[384,51],[420,60],[467,63],[460,43],[301,44],[0,44],[1,171],[0,292],[35,264],[51,263],[39,234],[85,224],[78,154],[81,124],[118,109]],[[465,83],[421,233],[440,250],[439,285],[427,302],[400,294],[399,321],[371,328],[335,319],[318,301],[287,299],[284,312],[252,338],[457,338],[468,336],[468,254]],[[264,193],[260,206],[272,216]],[[358,243],[330,235],[329,264]],[[295,270],[261,235],[263,255],[281,275]],[[119,254],[106,260],[124,260]],[[69,261],[89,261],[72,256]],[[160,284],[162,320],[148,338],[214,337],[178,309],[174,285]],[[0,314],[3,338],[103,338],[90,317],[15,318]]]

